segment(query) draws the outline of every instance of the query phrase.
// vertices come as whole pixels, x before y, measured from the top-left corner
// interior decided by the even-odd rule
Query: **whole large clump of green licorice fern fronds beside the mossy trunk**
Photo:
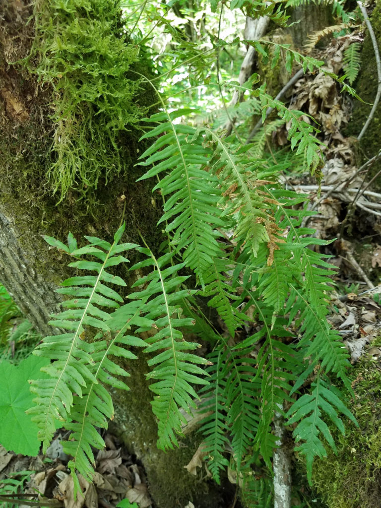
[[[242,7],[244,2],[232,4]],[[267,7],[259,4],[257,14],[264,14]],[[326,72],[323,62],[287,45],[249,44],[264,58],[270,58],[271,45],[272,66],[284,54],[290,73],[295,62],[304,71]],[[309,479],[313,458],[325,456],[327,443],[335,449],[324,418],[341,432],[339,415],[353,420],[344,391],[333,385],[339,378],[351,390],[348,355],[326,320],[332,273],[327,256],[313,250],[327,242],[301,227],[310,215],[301,208],[306,197],[280,188],[281,164],[271,166],[260,158],[267,135],[288,122],[291,149],[304,156],[305,166],[314,173],[321,164],[319,130],[303,119],[301,111],[274,100],[265,85],[251,89],[255,79],[243,86],[230,84],[240,92],[249,91],[263,120],[269,107],[280,117],[258,133],[255,146],[238,146],[206,126],[183,123],[182,118],[193,111],[170,112],[146,80],[158,94],[162,111],[142,120],[146,133],[141,139],[152,145],[141,156],[140,166],[147,170],[140,179],[156,177],[153,190],[163,196],[164,213],[158,223],[165,224],[168,240],[163,255],[158,257],[144,239],[144,247],[119,244],[124,227],[112,244],[86,237],[89,244],[78,248],[72,235],[68,245],[46,238],[75,259],[70,266],[86,273],[66,280],[58,290],[68,297],[63,302],[66,310],[51,324],[68,331],[47,337],[37,347],[36,354],[51,361],[44,369],[50,378],[32,383],[36,406],[30,412],[40,427],[44,450],[56,420],[72,432],[64,450],[73,457],[69,467],[74,478],[79,472],[91,480],[91,447],[104,446],[97,428],[105,428],[113,415],[106,386],[128,388],[120,379],[128,375],[123,364],[110,356],[133,360],[131,346],[143,347],[148,357],[159,448],[178,446],[183,411],[192,411],[195,399],[202,398],[200,433],[217,482],[221,470],[231,465],[238,482],[242,477],[243,485],[248,485],[253,455],[271,467],[277,441],[273,417],[285,401],[289,409],[283,417],[289,425],[296,424],[294,438],[306,456]],[[125,286],[125,282],[108,268],[128,261],[121,253],[131,248],[143,258],[132,270],[143,275],[123,304],[109,284]],[[191,284],[195,289],[189,289]],[[208,322],[200,300],[216,310],[218,326]],[[250,333],[240,339],[236,332],[245,328]],[[140,334],[148,330],[148,338],[142,340]],[[199,344],[184,330],[209,341],[211,353],[206,358],[196,354]],[[77,481],[75,485],[78,489]],[[267,492],[268,482],[255,488]]]

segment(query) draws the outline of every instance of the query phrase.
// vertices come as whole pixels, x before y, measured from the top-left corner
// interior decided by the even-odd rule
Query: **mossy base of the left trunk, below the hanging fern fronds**
[[[179,449],[163,451],[156,447],[157,424],[150,404],[153,394],[145,379],[146,360],[140,355],[129,366],[123,365],[131,373],[127,380],[130,390],[113,391],[115,417],[110,430],[144,465],[149,491],[157,508],[177,508],[189,501],[197,508],[230,506],[235,486],[227,479],[217,485],[208,478],[203,467],[196,476],[184,467],[201,443],[201,435],[179,438]],[[130,411],[129,408],[135,409]]]

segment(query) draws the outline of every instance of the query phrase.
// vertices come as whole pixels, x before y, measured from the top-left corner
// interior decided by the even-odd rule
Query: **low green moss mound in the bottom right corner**
[[[374,346],[381,345],[381,337]],[[330,426],[338,453],[316,460],[312,481],[329,508],[373,508],[381,497],[381,364],[364,355],[351,373],[355,398],[351,409],[359,428],[346,423],[342,436]]]

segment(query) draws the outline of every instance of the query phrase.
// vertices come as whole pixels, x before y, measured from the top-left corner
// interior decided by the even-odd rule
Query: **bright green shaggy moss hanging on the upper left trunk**
[[[125,40],[120,2],[40,0],[35,5],[36,38],[24,63],[53,97],[52,164],[47,182],[60,201],[69,189],[79,197],[126,173],[136,160],[139,137],[139,80],[131,70],[139,46]],[[138,131],[138,132],[137,132]]]

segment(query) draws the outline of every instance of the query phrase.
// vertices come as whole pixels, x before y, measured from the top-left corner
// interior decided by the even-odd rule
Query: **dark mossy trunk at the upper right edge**
[[[374,30],[375,38],[377,41],[381,39],[381,4],[376,3],[375,8],[370,16],[370,21]],[[348,122],[345,130],[346,136],[357,137],[372,108],[373,101],[377,92],[377,72],[376,61],[374,56],[374,49],[372,41],[367,33],[364,44],[362,45],[361,52],[361,68],[359,77],[356,80],[354,87],[363,101],[370,105],[364,104],[360,101],[354,102],[353,114],[351,121]],[[381,130],[381,103],[378,104],[372,121],[370,122],[368,129],[362,137],[358,146],[358,165],[361,166],[369,158],[373,157],[378,153],[381,148],[379,133]],[[367,180],[373,178],[378,171],[381,170],[381,161],[376,161],[369,169],[367,174]],[[381,177],[373,182],[373,188],[376,187],[378,190],[381,189]]]

